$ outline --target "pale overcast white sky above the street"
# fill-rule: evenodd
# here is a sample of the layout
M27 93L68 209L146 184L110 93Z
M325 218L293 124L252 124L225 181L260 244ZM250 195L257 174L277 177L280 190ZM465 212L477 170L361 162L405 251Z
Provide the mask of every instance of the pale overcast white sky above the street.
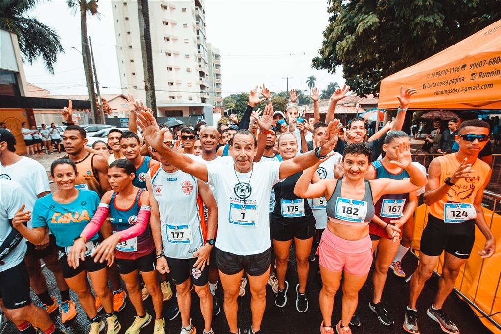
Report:
M223 96L248 92L266 83L272 92L306 89L314 75L316 86L325 89L330 82L343 84L341 69L335 75L311 68L311 59L323 41L328 24L327 0L231 1L205 3L207 42L221 52ZM99 2L100 18L88 19L102 94L120 93L116 57L112 2ZM61 37L65 54L59 55L55 75L39 60L25 64L28 82L53 94L87 94L81 50L80 18L74 16L64 0L41 2L31 13L53 27Z

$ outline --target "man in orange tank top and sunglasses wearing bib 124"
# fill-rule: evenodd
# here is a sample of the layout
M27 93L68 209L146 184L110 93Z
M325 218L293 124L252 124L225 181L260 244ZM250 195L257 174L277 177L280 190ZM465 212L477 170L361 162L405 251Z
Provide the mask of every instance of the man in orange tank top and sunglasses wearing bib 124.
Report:
M459 151L433 159L428 168L424 203L429 206L430 213L421 237L419 264L410 280L410 300L403 324L411 333L419 333L417 298L442 251L445 250L445 254L438 290L426 314L437 321L443 331L459 333L457 326L443 313L442 305L454 287L461 266L470 256L475 225L486 239L478 255L490 257L495 250L494 236L482 211L483 190L490 180L491 170L478 158L489 140L489 125L479 120L463 122L455 140Z

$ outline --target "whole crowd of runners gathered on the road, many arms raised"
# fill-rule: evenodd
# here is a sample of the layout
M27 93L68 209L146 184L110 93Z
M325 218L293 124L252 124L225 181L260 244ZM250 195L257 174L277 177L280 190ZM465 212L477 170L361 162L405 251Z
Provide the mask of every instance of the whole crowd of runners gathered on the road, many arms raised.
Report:
M16 153L16 139L1 125L3 311L23 334L34 334L36 327L61 334L49 313L60 308L65 323L77 315L80 303L89 334L105 327L107 334L116 334L125 326L117 313L128 300L136 313L127 323L128 334L151 321L153 332L164 334L166 320L178 314L181 334L194 334L195 326L212 334L212 318L221 311L215 297L220 287L227 328L218 332L242 332L240 306L252 311L247 332L263 333L267 308L284 307L293 298L299 314L290 316L300 317L312 302L319 303L318 331L347 334L364 321L356 310L367 306L358 305L358 294L374 262L368 307L390 326L398 305L383 303L383 289L389 271L406 276L401 260L423 194L428 224L403 329L419 333L416 301L445 251L426 314L444 332L459 333L442 305L469 256L485 258L495 251L481 201L491 173L490 138L499 141L499 120L489 125L476 114L461 113L448 120L447 129L439 119L427 129L413 127L414 137L426 134L424 150L443 153L426 170L412 161L409 135L401 131L418 91L401 87L396 117L369 131L365 119L341 124L335 118L336 103L349 90L345 85L334 92L322 121L317 89L310 96L314 117L304 119L296 91L283 111L274 111L263 85L249 93L241 117L229 115L216 126L157 124L147 106L128 96L129 131L112 129L106 142L92 147L86 145L86 131L74 124L70 104L61 111L62 133L54 124L41 129L22 124L28 157ZM261 103L264 109L255 110ZM61 144L66 154L51 165L57 186L51 192L46 171L29 156L61 152ZM486 242L471 254L475 226ZM296 286L286 277L293 243ZM60 302L49 293L40 259L56 277ZM308 289L312 261L320 267L318 296ZM266 304L267 285L275 294L272 306ZM32 303L30 287L41 307ZM341 318L333 321L339 288ZM191 316L192 290L201 319ZM238 302L246 291L250 306ZM149 296L153 309L144 304ZM175 302L164 309L169 299Z

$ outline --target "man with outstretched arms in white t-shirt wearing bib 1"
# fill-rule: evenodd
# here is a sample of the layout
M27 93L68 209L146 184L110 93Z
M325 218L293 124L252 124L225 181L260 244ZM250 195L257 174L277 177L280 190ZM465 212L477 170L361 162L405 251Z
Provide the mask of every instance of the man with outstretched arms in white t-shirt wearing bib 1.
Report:
M257 120L262 130L260 136L268 135L272 115L273 108L265 108L262 119ZM249 333L259 332L270 268L271 188L289 175L313 166L319 158L325 158L337 142L339 121L330 124L321 147L284 162L254 163L258 141L249 131L240 130L229 148L233 165L204 165L165 145L163 133L166 129L160 130L151 114L141 111L137 119L145 140L154 150L176 168L217 188L214 194L218 205L216 261L224 289L226 320L230 332L238 333L237 298L240 279L245 272L252 293L253 323ZM264 139L266 141L266 137Z

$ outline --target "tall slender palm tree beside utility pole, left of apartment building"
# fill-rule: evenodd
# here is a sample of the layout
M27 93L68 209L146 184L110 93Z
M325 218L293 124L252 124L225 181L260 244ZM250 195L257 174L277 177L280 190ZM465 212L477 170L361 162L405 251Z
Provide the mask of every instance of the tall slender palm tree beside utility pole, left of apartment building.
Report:
M94 122L97 123L100 119L99 111L97 108L96 92L94 89L94 77L92 74L91 65L91 52L89 49L89 38L87 36L87 14L92 16L98 15L97 5L98 0L66 0L66 4L73 13L80 12L80 30L82 42L82 61L84 63L85 81L87 83L87 93L89 94L89 101L91 102L91 111Z

